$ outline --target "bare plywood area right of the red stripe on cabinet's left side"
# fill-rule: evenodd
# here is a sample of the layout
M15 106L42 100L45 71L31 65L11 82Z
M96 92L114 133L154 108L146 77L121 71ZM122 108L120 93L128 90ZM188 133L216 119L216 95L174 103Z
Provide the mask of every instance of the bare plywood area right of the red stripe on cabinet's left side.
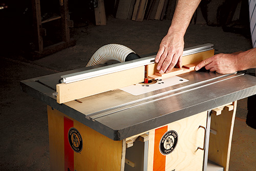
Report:
M113 141L78 121L74 127L83 135L84 145L74 155L76 170L121 170L122 141Z

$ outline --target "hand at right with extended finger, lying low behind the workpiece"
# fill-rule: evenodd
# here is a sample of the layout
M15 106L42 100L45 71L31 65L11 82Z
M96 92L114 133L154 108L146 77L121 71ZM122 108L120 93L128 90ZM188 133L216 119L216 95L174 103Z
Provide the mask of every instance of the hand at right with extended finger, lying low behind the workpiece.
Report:
M231 74L237 72L238 55L237 54L217 54L201 61L195 68L196 71L205 67L211 72L216 71L219 74Z

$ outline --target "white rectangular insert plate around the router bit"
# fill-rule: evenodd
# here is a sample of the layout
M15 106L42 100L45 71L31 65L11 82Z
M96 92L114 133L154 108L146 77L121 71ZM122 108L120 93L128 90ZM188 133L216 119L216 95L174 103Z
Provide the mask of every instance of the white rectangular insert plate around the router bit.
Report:
M174 77L169 77L169 78L165 78L165 79L159 79L156 81L157 82L154 84L137 83L137 84L133 84L132 86L127 86L127 87L121 88L120 90L137 96L137 95L141 95L144 93L153 92L156 90L174 86L176 84L180 84L183 82L187 82L188 80L178 77L178 76L174 76Z

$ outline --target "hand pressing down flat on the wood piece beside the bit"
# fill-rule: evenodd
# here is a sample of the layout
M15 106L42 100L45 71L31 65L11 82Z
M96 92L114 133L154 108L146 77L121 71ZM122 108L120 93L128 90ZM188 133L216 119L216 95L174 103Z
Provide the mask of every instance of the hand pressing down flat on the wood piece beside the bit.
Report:
M167 34L161 41L155 61L158 63L159 73L170 72L175 65L181 68L181 59L184 49L182 35Z

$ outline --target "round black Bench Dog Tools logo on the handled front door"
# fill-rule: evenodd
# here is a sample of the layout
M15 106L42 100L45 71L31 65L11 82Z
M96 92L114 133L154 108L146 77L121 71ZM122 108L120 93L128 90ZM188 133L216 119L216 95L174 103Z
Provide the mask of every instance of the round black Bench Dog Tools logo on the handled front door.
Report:
M178 143L178 134L175 131L166 132L159 143L160 152L163 155L172 153Z

